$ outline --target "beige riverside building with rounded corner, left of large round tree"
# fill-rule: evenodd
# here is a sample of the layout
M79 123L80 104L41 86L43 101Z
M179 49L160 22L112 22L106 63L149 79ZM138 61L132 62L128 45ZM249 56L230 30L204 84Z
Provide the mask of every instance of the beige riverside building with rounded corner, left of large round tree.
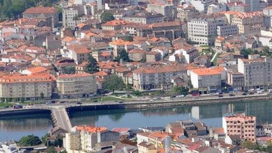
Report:
M62 74L57 78L57 90L61 98L79 98L96 95L95 76L89 73Z

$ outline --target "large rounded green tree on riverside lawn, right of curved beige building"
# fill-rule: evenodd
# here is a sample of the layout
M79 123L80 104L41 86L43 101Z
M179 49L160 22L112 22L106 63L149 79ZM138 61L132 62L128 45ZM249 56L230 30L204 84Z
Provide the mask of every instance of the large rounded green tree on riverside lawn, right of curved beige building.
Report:
M113 91L115 90L121 90L125 87L125 83L123 82L123 79L121 77L118 77L116 74L112 74L109 79L107 79L105 83L105 88Z

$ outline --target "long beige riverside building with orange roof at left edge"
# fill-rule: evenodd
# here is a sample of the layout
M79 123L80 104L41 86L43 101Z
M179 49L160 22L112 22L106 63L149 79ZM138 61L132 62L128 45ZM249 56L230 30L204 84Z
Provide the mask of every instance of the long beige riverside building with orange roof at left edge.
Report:
M0 98L39 99L43 93L50 99L55 88L56 78L47 73L18 75L9 74L0 78Z

